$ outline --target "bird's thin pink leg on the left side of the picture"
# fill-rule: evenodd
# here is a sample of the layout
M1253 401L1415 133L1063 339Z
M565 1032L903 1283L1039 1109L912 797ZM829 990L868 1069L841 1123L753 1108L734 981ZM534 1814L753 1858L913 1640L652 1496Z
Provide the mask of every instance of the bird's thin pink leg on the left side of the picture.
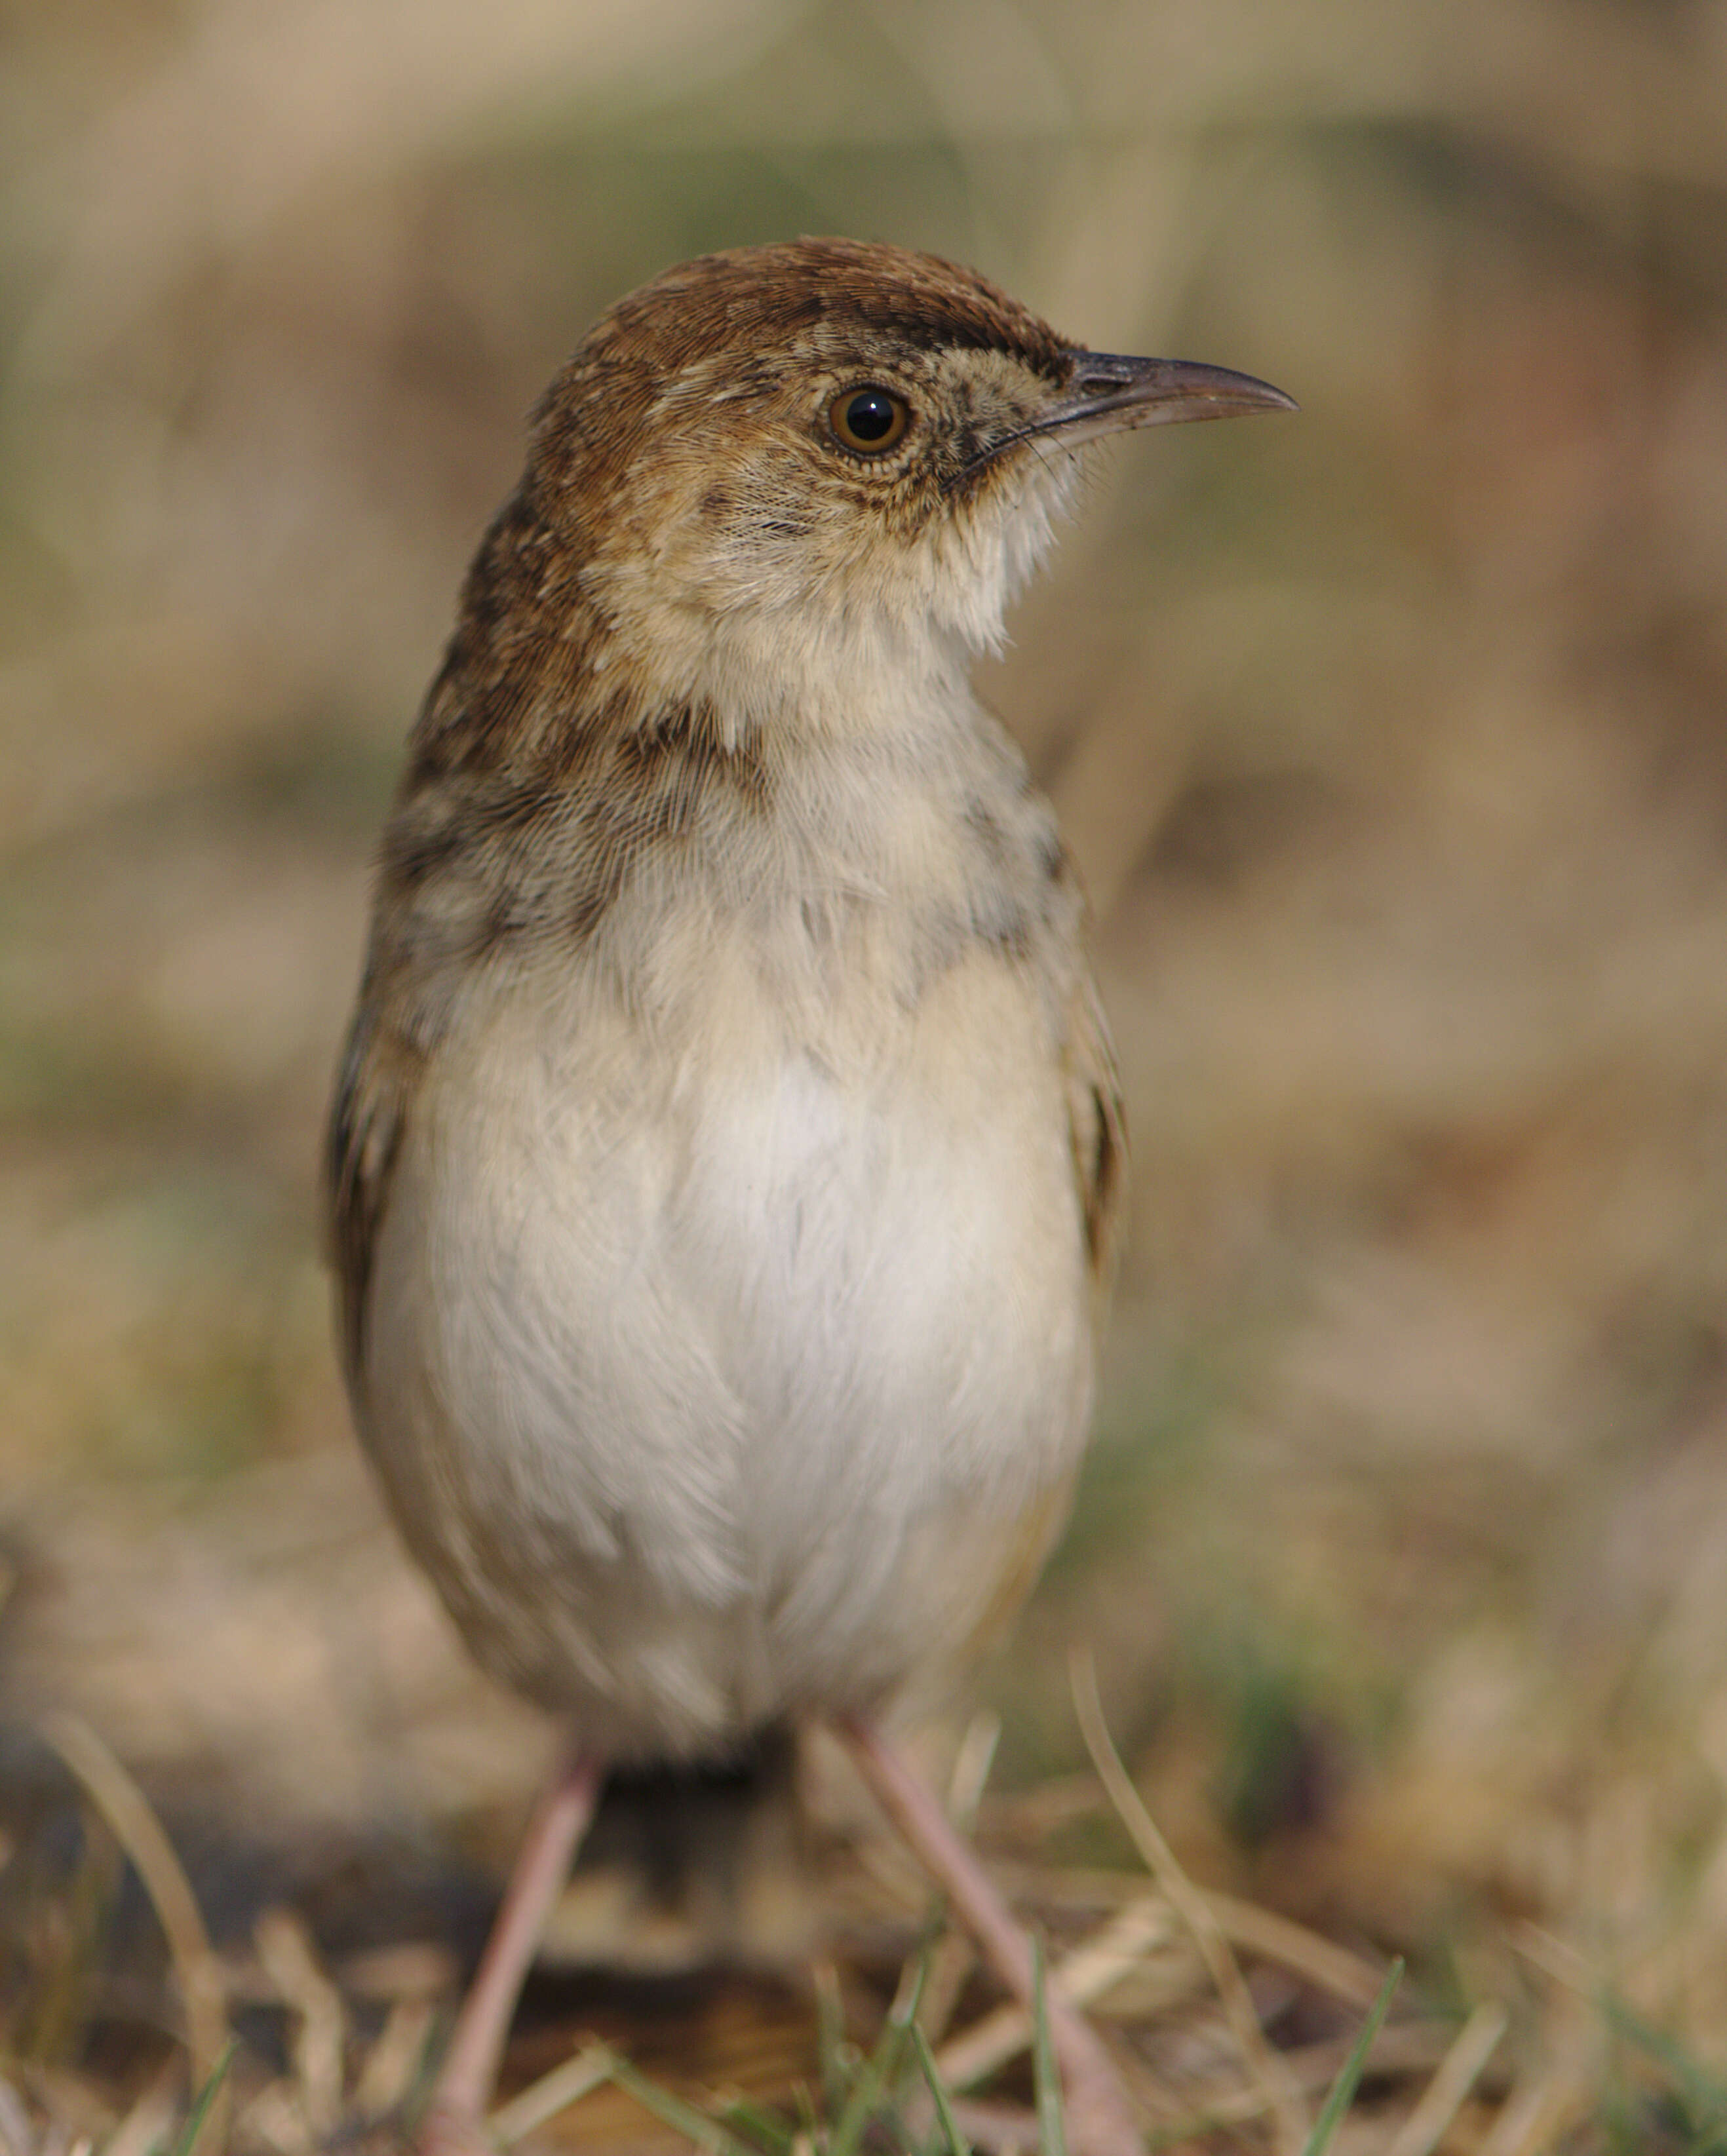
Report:
M485 2106L492 2102L509 2022L539 1934L593 1820L602 1779L597 1759L574 1753L535 1805L492 1936L431 2085L416 2141L418 2156L489 2156Z

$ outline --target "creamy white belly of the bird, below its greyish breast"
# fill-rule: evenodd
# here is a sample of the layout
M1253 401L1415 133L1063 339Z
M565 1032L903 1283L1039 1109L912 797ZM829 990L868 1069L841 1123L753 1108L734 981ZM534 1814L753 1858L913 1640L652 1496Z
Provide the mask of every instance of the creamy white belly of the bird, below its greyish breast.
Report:
M395 1166L360 1421L474 1654L614 1757L878 1708L1061 1524L1089 1287L1048 1022L994 955L789 1044L515 996ZM815 1052L828 1050L828 1052Z

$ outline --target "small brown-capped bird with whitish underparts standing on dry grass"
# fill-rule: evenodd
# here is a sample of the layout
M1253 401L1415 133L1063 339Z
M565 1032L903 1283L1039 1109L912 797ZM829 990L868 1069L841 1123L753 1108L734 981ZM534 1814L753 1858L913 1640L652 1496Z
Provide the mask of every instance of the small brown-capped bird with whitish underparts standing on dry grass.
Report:
M1294 407L854 239L707 254L552 382L412 729L326 1147L410 1554L569 1753L420 2124L483 2150L608 1770L826 1720L1026 1996L895 1736L1065 1520L1125 1132L1087 903L970 671L1080 451ZM1069 2134L1141 2145L1061 2003Z

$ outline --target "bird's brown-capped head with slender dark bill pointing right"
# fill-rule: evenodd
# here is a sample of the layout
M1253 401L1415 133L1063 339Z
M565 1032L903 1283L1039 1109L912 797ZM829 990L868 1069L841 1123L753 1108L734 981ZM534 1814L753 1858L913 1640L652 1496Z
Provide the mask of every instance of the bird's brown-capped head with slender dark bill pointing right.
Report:
M621 300L539 410L524 502L614 679L856 720L1000 638L1080 444L1289 403L1087 351L936 257L798 239Z

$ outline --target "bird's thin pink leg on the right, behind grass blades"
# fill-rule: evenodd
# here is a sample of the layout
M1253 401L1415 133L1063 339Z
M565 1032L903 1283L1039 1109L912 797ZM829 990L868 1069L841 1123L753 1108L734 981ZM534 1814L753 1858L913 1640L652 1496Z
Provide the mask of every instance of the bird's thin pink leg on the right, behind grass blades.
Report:
M992 1887L970 1843L955 1833L931 1789L873 1723L860 1716L847 1718L839 1725L839 1733L882 1811L944 1889L1000 1981L1031 2009L1031 1940ZM1082 2150L1084 2156L1145 2156L1132 2100L1102 2040L1054 1990L1046 1988L1044 1999L1067 2100L1069 2147Z

